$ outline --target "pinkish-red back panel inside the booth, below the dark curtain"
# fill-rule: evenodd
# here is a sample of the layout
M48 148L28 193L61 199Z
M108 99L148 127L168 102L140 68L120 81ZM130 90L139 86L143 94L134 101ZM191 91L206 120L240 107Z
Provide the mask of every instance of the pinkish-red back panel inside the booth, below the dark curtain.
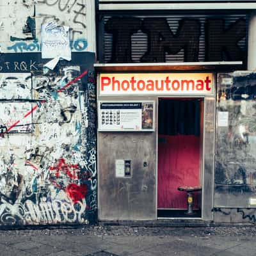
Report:
M195 135L159 135L158 208L186 209L186 192L179 186L200 186L200 137ZM198 208L195 193L195 208Z

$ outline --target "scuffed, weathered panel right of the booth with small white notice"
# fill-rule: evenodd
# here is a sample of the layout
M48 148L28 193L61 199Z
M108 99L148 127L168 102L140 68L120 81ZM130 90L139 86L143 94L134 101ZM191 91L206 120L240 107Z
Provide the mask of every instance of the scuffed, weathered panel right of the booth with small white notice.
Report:
M218 76L215 207L256 207L256 74Z

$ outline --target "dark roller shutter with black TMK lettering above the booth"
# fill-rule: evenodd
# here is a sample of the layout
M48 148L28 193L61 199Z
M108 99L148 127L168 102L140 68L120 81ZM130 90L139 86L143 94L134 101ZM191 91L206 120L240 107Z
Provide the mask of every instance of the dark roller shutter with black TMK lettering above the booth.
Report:
M100 62L246 61L246 15L145 17L119 10L104 13L99 24L99 38L104 38L99 40Z

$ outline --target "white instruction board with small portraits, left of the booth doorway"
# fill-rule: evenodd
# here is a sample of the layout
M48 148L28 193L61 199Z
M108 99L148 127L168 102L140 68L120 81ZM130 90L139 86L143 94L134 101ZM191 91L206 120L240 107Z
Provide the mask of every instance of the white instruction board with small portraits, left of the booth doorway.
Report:
M99 102L99 131L154 131L154 101Z

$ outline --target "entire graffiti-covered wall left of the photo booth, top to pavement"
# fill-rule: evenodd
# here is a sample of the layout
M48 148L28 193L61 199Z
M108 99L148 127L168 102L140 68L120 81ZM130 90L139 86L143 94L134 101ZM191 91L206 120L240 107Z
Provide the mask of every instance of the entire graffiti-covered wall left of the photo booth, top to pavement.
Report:
M0 225L97 220L94 8L0 3ZM50 70L40 43L52 20L70 27L72 56Z

